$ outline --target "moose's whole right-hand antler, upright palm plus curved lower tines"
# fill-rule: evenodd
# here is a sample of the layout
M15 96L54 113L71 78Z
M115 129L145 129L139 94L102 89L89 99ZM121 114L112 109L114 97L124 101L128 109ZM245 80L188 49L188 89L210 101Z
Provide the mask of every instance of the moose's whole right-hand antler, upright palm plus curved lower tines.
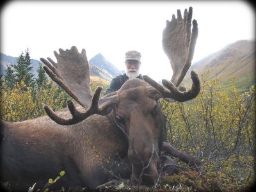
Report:
M166 27L163 30L162 45L172 66L173 75L171 81L163 79L162 83L164 87L156 83L156 81L150 77L143 76L143 79L161 92L164 98L186 101L195 98L200 92L200 81L194 71L191 71L191 79L193 81L191 90L188 92L180 92L177 88L191 66L198 36L198 27L195 19L193 20L191 34L191 19L192 8L189 7L189 12L187 10L184 11L183 19L180 10L177 10L177 19L175 15L172 15L171 21L166 20Z

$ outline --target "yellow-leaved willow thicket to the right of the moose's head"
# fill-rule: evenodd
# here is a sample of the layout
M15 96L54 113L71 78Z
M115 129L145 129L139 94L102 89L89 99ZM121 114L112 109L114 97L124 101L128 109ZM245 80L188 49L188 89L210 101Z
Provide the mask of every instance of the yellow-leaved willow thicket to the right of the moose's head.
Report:
M161 100L167 116L168 141L198 157L205 174L224 186L250 186L255 170L255 86L239 93L232 77L230 92L221 91L220 79L202 74L201 92L188 102Z

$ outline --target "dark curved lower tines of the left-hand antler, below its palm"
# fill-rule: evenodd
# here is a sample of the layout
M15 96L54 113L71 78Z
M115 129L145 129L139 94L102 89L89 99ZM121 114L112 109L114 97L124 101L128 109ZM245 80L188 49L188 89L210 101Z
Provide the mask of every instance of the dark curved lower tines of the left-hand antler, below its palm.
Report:
M45 105L44 109L47 115L54 120L57 124L60 125L73 125L77 124L89 116L93 114L98 115L108 115L112 109L112 104L116 102L115 99L108 100L108 102L105 102L102 104L102 106L99 107L99 99L100 99L100 92L102 91L102 87L97 87L95 90L95 93L93 95L92 104L89 109L87 109L85 112L80 112L77 110L76 106L72 102L72 100L67 101L68 109L72 115L72 118L65 119L58 116L57 113L55 113L49 106Z

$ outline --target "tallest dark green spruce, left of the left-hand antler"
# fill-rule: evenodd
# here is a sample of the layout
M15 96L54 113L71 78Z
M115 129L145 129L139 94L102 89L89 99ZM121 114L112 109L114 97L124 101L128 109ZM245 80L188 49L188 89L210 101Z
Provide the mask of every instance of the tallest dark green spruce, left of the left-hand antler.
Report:
M31 58L29 56L29 49L26 49L25 55L22 52L17 59L17 65L12 65L13 68L15 68L16 73L16 82L21 82L22 79L26 86L33 87L35 84L35 79L32 74L31 69Z

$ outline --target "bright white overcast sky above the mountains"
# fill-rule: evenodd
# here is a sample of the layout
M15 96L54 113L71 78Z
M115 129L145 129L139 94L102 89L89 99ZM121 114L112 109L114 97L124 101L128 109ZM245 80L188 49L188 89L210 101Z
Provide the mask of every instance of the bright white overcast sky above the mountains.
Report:
M161 45L166 20L193 7L198 40L193 63L237 40L255 39L255 12L247 1L9 1L1 7L1 52L51 57L59 48L86 49L124 70L125 52L141 52L141 74L170 79Z

